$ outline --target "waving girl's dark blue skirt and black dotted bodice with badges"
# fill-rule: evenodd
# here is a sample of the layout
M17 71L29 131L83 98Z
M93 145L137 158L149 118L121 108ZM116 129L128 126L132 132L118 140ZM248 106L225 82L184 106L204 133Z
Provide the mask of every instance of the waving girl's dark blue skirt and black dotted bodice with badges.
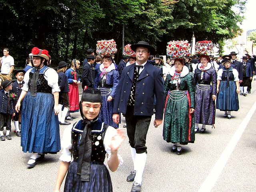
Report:
M90 180L81 181L81 175L77 174L79 164L79 144L84 131L82 120L74 124L72 128L72 155L74 160L68 167L64 192L112 192L112 182L108 169L103 164L106 156L103 140L108 125L100 120L92 122L92 154L90 164Z

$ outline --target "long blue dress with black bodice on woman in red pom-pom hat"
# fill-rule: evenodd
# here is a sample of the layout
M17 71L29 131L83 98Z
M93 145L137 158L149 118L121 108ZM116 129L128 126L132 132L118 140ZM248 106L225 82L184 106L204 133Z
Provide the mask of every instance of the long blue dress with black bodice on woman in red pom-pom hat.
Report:
M54 96L52 88L44 78L48 69L44 66L39 70L36 82L37 92L30 92L33 68L29 74L29 90L22 103L22 134L23 152L56 153L60 151L60 128L58 116L54 115ZM33 95L33 96L32 96Z

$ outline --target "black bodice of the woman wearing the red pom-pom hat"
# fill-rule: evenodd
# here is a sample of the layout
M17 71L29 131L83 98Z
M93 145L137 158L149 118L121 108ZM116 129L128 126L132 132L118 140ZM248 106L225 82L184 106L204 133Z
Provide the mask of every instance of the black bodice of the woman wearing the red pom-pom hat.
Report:
M48 85L47 80L44 78L44 73L46 72L46 70L48 70L49 67L48 66L43 66L40 71L39 71L39 76L38 76L38 80L37 82L32 82L32 77L34 72L36 72L36 68L32 68L32 70L29 73L29 80L28 80L28 90L30 91L30 85L31 84L35 84L37 86L37 92L43 92L43 93L51 93L52 92L52 88Z

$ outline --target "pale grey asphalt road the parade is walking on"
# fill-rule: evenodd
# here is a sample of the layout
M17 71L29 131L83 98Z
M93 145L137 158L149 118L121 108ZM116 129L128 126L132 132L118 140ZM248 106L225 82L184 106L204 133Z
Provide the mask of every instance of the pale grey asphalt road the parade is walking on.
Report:
M180 156L170 152L171 144L162 138L162 125L154 128L152 116L142 192L256 191L256 81L252 83L252 94L239 96L240 109L232 112L232 119L216 110L215 129L206 126L206 133L196 134L195 143L184 146ZM74 116L79 120L79 113ZM123 124L122 117L120 127ZM61 135L64 128L60 126ZM133 164L127 137L119 154L124 164L110 172L114 192L130 192L132 183L126 182L126 176ZM48 154L27 169L30 154L22 152L20 138L12 132L12 140L0 141L0 192L53 191L59 156Z

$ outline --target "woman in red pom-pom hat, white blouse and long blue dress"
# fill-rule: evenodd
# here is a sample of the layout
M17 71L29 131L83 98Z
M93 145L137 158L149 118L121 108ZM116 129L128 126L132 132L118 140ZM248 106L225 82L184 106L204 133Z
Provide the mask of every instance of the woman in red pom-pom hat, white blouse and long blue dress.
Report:
M24 75L25 83L15 109L17 112L20 110L21 101L24 99L21 146L23 152L32 153L27 167L33 168L36 162L44 158L44 154L56 154L60 151L57 116L60 88L57 72L47 66L48 51L34 47L30 56L34 67Z

